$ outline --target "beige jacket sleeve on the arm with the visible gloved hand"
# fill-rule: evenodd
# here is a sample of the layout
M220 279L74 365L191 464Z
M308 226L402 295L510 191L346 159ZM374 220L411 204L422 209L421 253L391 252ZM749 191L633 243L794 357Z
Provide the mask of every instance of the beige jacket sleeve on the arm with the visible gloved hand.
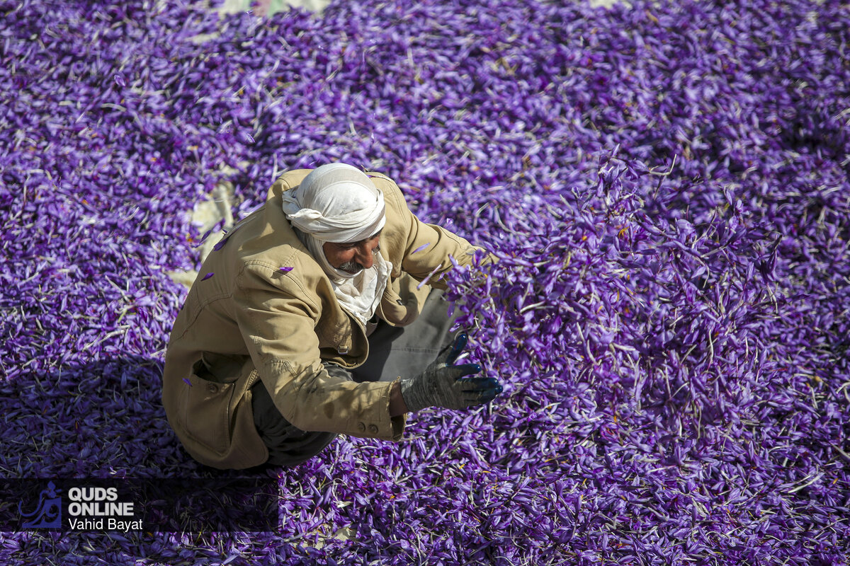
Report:
M298 429L399 440L405 418L389 416L392 383L332 377L320 359L320 305L275 266L245 266L234 291L235 317L275 406ZM286 279L286 285L283 284Z

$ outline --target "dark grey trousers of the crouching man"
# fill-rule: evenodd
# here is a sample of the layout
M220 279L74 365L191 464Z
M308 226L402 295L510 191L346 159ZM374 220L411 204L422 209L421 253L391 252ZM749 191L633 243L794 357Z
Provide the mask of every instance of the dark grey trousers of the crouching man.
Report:
M443 292L433 289L416 321L406 327L378 322L369 336L369 358L360 367L344 370L336 364L325 365L328 373L341 378L364 381L394 381L421 373L450 342L455 317L448 316L449 304ZM269 448L268 464L295 466L324 450L337 434L307 432L289 423L275 407L262 381L251 389L254 424Z

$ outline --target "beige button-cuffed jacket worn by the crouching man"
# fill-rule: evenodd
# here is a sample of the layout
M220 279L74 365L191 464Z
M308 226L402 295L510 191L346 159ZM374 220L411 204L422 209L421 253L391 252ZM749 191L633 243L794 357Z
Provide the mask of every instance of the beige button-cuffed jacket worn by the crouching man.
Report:
M252 416L250 389L258 379L298 429L399 440L405 427L405 417L389 416L392 384L333 378L322 365L357 367L369 343L281 209L280 194L309 171L280 177L266 204L225 236L174 322L162 403L190 455L215 468L250 468L268 458ZM468 265L476 248L419 221L395 182L369 175L387 206L380 254L393 264L377 316L403 326L428 296L428 285L416 290L418 281L439 266L429 284L445 289L438 277L450 270L450 256Z

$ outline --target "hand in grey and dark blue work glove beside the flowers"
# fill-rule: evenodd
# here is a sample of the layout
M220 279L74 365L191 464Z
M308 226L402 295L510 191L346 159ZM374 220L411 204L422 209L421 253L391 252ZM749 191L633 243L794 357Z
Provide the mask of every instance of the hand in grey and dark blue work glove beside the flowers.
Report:
M427 406L465 409L489 403L501 393L501 385L495 378L464 377L481 371L477 363L452 365L466 345L467 334L461 333L424 372L401 380L401 396L408 411L419 411Z

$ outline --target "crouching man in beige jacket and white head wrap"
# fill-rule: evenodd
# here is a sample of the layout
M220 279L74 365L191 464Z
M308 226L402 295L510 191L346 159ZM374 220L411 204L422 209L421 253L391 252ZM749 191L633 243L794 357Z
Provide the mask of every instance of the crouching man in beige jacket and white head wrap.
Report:
M399 440L406 412L492 401L496 379L453 365L465 334L442 347L450 320L428 289L475 250L416 219L388 177L287 172L216 245L174 322L168 422L209 466L292 466L337 434Z

